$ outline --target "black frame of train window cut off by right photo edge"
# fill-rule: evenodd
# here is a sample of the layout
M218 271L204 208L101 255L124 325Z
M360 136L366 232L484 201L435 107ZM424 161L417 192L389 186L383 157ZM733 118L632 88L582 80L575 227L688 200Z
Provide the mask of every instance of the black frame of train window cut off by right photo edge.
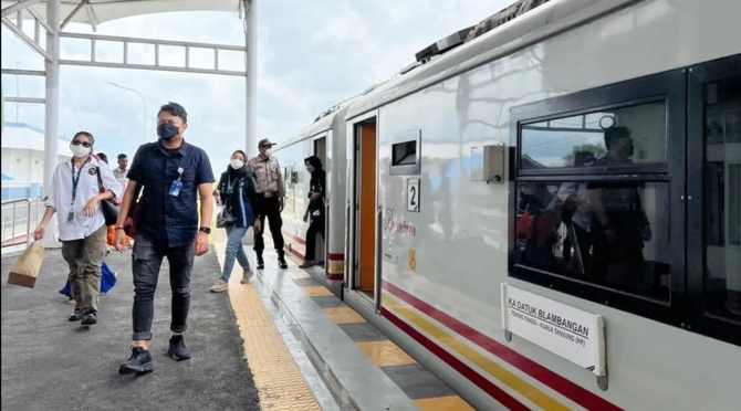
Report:
M739 76L741 54L687 68L687 289L686 328L741 346L741 322L711 314L705 304L705 85ZM728 233L726 233L728 235ZM724 239L728 242L728 239Z

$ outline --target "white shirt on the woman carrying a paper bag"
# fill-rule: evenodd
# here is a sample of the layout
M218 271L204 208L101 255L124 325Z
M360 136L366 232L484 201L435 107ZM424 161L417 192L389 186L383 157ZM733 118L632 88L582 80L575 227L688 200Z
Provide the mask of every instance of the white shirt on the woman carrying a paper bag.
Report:
M46 207L53 208L58 213L60 240L62 241L83 240L105 224L100 203L93 217L84 214L87 201L101 192L97 182L98 172L103 187L113 191L114 198L121 198L122 196L121 185L113 177L113 171L105 162L91 157L90 161L82 166L82 170L75 168L73 175L72 169L71 161L61 162L56 166L46 199ZM72 203L72 178L73 176L76 178L77 172L80 172L77 193L74 203ZM71 213L72 220L70 221Z

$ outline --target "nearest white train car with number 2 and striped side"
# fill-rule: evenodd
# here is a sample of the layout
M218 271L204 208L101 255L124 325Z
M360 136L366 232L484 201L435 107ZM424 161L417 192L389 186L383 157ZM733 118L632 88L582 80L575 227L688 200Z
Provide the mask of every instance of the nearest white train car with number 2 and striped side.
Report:
M554 0L353 102L345 302L478 410L739 410L739 15Z

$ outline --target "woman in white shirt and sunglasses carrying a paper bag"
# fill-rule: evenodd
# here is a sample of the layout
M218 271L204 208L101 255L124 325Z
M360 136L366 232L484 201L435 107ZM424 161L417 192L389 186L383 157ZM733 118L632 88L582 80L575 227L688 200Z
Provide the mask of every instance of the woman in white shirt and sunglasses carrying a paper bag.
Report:
M33 232L34 240L43 239L46 224L54 213L59 213L62 257L70 266L75 299L70 322L82 320L84 326L97 324L101 265L107 233L101 201L119 198L122 193L108 166L92 156L94 144L93 135L87 131L74 135L70 144L74 157L54 169L46 211Z

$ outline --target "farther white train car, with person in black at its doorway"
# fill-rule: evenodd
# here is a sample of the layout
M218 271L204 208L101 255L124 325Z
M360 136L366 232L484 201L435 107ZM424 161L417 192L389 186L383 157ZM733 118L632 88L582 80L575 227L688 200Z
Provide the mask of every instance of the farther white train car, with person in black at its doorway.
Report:
M345 123L344 116L357 97L336 104L320 114L314 123L300 129L275 146L285 181L285 205L283 209L283 238L285 249L299 260L304 259L306 230L303 221L309 205L310 173L304 159L316 156L326 170L326 238L317 235L317 266L310 273L341 296L344 278L344 224L345 224Z

